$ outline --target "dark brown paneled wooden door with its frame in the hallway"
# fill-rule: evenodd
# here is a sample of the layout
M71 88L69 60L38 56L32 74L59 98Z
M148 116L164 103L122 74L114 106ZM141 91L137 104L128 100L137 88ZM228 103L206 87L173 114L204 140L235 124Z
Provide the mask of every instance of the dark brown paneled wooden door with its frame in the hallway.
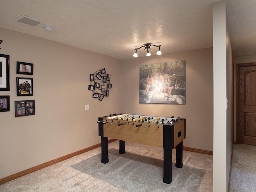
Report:
M236 143L256 145L256 63L238 64Z

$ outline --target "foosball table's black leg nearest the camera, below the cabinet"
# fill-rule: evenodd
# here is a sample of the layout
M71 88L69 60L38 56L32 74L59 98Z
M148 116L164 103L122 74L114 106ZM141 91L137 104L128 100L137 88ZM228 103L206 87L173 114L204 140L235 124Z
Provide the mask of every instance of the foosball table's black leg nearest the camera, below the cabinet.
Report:
M172 150L164 149L164 183L172 182Z

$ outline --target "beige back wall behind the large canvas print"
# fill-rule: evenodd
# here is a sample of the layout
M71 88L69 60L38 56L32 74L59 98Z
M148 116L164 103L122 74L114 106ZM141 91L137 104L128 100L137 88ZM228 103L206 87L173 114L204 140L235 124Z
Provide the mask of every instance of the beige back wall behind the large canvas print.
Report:
M186 104L140 104L139 66L185 60ZM122 112L186 118L183 145L213 151L212 48L122 61Z

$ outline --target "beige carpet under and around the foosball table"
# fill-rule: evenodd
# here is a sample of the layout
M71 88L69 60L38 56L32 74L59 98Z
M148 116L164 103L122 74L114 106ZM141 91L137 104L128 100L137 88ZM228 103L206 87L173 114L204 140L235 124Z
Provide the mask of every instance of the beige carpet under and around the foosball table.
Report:
M80 154L0 186L1 192L212 192L213 156L183 151L183 168L175 167L172 183L163 183L163 149L126 142L109 144L109 162L100 148Z

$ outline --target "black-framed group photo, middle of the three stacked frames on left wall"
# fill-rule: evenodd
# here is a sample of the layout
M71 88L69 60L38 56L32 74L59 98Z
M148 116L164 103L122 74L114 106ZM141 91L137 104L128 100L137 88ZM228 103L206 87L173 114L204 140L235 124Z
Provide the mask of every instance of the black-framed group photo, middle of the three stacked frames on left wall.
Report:
M33 78L17 77L17 96L33 95Z

